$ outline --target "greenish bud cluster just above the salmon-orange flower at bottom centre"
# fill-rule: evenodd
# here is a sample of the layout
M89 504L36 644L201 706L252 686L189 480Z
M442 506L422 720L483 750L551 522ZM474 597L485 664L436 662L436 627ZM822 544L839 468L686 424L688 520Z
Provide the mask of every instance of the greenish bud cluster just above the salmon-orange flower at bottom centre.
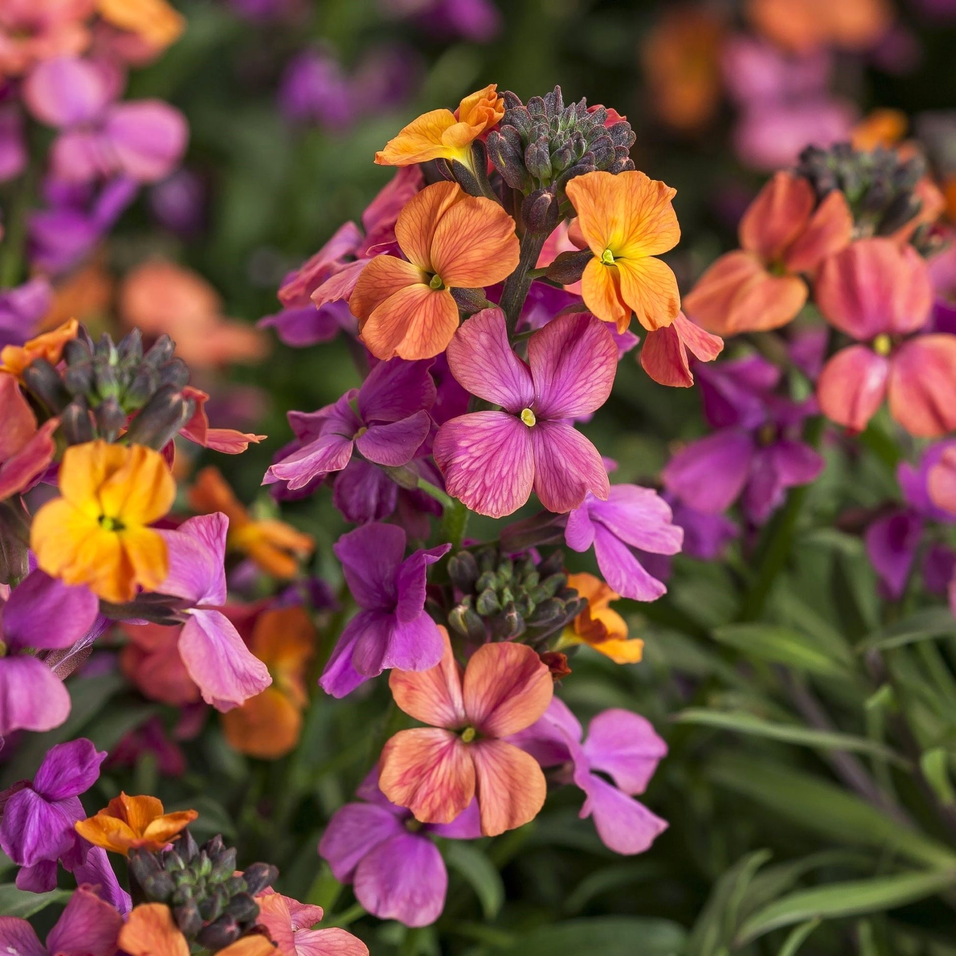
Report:
M472 641L545 638L576 617L584 606L568 587L564 555L545 560L514 559L489 545L448 559L448 576L461 599L448 615L453 631Z

